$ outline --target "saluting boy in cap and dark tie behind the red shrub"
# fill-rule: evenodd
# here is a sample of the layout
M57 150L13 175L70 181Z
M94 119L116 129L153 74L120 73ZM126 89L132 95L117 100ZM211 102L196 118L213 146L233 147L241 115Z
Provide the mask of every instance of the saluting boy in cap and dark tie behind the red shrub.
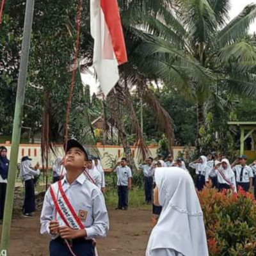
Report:
M247 157L242 155L234 161L232 167L236 175L237 188L241 187L244 191L248 192L252 190L253 186L253 171L252 168L246 164L246 161Z

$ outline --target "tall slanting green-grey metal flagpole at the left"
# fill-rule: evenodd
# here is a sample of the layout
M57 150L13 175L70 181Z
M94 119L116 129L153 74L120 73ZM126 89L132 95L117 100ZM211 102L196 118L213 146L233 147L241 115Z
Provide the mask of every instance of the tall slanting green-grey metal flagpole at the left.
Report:
M17 161L19 154L20 132L22 124L24 97L26 92L26 76L28 70L29 60L29 48L31 30L33 24L33 12L34 12L35 0L26 0L26 14L24 21L24 31L22 40L22 51L20 58L20 70L19 80L17 86L17 96L15 102L15 114L13 121L12 131L12 149L10 156L10 166L8 172L8 184L6 189L6 203L4 206L4 220L1 237L1 252L6 250L8 254L8 247L10 244L10 229L12 224L12 212L13 212L13 198L15 191L15 178L17 172Z

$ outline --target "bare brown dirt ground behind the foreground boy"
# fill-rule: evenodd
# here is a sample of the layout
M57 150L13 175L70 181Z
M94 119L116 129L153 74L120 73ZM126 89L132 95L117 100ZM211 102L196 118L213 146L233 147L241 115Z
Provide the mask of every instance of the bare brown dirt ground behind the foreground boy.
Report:
M151 230L151 211L109 208L110 230L107 239L98 240L100 256L144 256ZM49 237L41 236L40 212L33 219L13 220L11 247L8 256L48 256ZM60 255L61 256L61 255Z

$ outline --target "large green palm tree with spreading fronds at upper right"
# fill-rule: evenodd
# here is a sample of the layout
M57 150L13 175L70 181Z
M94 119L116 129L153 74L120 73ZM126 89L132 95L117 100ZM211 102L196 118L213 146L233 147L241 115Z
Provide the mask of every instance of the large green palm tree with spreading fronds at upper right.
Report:
M205 102L226 93L255 95L255 44L246 40L256 4L230 22L230 0L177 0L162 12L145 14L147 42L138 45L138 67L195 99L197 139L204 126ZM152 22L156 17L157 21ZM142 30L145 32L145 28ZM145 58L151 61L145 61Z

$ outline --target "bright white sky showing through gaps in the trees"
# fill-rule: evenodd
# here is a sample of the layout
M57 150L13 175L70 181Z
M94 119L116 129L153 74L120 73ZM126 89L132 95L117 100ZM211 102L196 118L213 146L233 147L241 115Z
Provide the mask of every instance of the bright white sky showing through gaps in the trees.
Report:
M230 10L230 19L233 19L236 17L242 10L243 8L251 3L256 3L256 0L230 0L232 7ZM256 22L252 24L250 28L250 33L256 32ZM88 75L83 75L83 80L84 83L89 84L91 88L91 95L95 92L97 93L98 91L98 86L99 84L95 83L95 78L88 74Z

